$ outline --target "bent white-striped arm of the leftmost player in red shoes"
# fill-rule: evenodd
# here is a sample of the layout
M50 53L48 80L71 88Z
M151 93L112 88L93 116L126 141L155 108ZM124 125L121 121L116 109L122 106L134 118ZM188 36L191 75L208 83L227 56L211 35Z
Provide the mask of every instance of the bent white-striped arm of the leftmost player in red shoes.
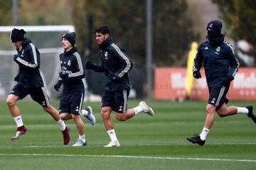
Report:
M36 47L33 44L29 44L28 47L28 55L31 57L26 56L26 52L24 52L24 56L21 57L22 54L14 55L14 61L18 64L21 64L23 67L28 67L31 69L38 69L40 67L40 54L38 50L36 50ZM31 60L28 61L28 58Z

